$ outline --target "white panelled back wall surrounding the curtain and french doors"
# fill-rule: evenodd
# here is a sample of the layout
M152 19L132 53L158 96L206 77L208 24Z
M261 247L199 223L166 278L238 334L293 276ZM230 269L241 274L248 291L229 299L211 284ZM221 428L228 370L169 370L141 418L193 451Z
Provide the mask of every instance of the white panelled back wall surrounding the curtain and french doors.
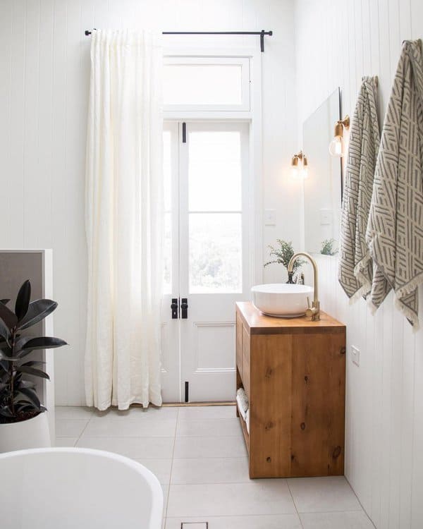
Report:
M84 166L90 37L87 28L274 30L263 60L264 230L299 243L292 0L1 0L0 248L52 248L56 401L85 403L86 251ZM167 37L183 44L183 37ZM187 38L187 37L185 37ZM185 44L259 46L258 37L188 37ZM279 269L266 271L266 278Z

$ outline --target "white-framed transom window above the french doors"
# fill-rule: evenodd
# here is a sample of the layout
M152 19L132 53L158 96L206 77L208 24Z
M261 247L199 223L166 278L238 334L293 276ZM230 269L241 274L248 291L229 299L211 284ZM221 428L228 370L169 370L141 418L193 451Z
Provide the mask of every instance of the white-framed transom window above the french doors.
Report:
M163 75L167 111L250 110L247 57L166 56Z

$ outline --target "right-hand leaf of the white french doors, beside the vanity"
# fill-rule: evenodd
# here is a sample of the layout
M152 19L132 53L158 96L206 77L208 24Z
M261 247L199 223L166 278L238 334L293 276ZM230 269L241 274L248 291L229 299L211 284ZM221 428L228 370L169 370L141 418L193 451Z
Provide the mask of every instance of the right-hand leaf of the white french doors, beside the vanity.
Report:
M235 399L235 301L248 295L247 123L187 123L180 174L181 384Z

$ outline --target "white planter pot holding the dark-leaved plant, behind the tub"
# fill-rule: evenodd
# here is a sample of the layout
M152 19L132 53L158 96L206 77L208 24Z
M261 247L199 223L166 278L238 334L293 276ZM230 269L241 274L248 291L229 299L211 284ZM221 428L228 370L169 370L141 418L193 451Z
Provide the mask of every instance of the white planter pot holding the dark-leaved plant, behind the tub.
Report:
M51 442L46 412L21 422L0 425L0 453L49 446Z

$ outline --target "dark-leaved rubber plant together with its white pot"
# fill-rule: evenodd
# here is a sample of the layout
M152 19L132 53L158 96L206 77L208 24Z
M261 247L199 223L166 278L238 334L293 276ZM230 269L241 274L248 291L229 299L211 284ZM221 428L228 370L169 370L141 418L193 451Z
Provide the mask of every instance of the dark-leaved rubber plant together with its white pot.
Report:
M44 320L57 303L48 299L30 302L30 281L20 287L15 310L10 300L0 300L0 452L49 446L46 408L35 391L33 377L49 379L40 369L43 362L31 360L37 349L66 345L50 336L28 336L26 329Z

